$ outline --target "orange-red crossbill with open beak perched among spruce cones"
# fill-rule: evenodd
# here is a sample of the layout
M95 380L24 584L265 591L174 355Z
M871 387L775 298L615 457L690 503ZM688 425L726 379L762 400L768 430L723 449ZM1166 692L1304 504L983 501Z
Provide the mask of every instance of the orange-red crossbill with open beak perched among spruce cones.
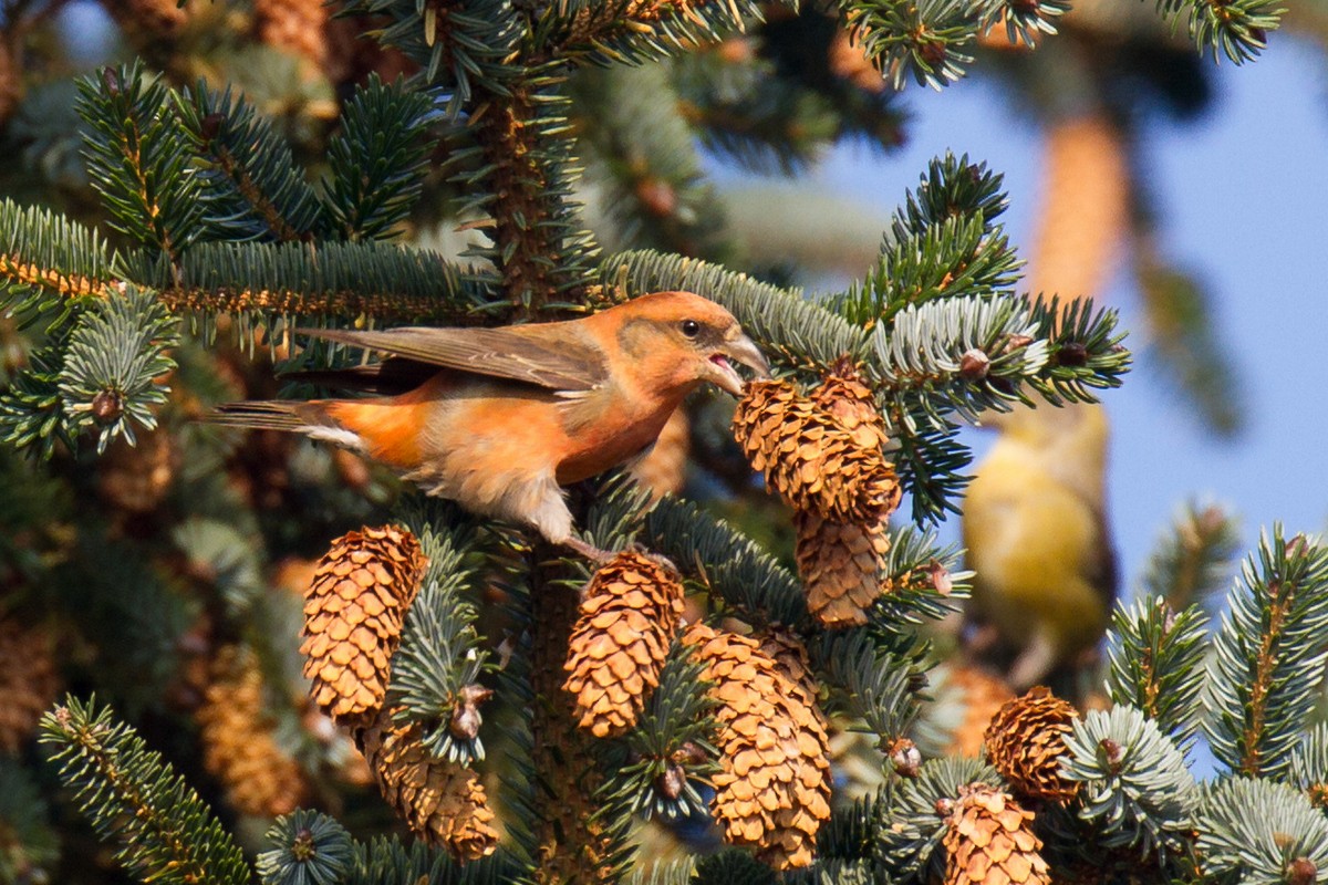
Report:
M211 421L345 447L429 495L523 523L590 559L607 555L574 536L562 486L647 451L701 383L740 395L730 360L769 375L737 320L691 292L656 292L563 322L303 333L389 354L303 373L378 395L235 402Z

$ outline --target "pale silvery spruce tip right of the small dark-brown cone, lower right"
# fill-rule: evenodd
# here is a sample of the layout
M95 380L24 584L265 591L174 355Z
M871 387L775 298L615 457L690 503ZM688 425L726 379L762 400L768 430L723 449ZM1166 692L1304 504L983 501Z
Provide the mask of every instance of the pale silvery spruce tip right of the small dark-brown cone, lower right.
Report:
M1065 738L1066 779L1082 784L1078 816L1100 828L1108 848L1137 848L1141 858L1183 851L1199 799L1185 754L1147 715L1120 703L1092 710Z

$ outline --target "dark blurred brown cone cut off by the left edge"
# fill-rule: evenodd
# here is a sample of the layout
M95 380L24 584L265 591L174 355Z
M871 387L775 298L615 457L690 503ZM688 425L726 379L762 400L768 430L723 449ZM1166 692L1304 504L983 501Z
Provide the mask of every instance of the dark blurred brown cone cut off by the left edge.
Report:
M60 675L45 628L0 621L0 750L19 748L37 730L41 714L56 702Z

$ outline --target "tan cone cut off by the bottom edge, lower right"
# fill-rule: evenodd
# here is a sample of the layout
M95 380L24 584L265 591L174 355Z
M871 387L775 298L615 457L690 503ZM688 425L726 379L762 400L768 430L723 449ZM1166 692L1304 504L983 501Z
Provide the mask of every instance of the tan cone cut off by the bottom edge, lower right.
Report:
M946 885L1050 885L1033 812L988 784L959 788L947 820Z

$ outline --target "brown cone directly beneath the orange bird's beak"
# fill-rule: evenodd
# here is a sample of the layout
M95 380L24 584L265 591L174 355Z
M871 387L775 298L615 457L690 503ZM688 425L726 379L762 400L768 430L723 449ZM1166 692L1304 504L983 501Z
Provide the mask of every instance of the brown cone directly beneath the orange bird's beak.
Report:
M876 523L899 506L899 480L879 448L818 409L788 381L753 381L733 434L768 486L797 510L841 523Z

